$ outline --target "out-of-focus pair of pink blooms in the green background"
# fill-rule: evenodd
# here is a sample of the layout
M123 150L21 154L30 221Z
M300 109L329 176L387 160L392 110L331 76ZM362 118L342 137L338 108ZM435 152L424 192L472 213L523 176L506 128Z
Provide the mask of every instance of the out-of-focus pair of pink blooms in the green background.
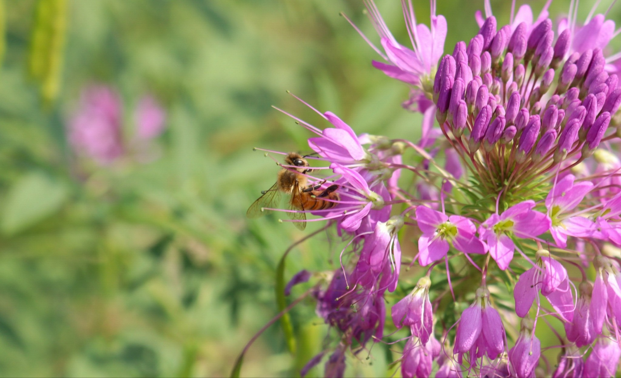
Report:
M78 109L67 125L68 140L76 153L99 165L135 152L148 159L149 143L164 130L166 113L150 95L143 96L134 111L135 130L129 140L123 133L123 104L116 90L104 85L86 87Z

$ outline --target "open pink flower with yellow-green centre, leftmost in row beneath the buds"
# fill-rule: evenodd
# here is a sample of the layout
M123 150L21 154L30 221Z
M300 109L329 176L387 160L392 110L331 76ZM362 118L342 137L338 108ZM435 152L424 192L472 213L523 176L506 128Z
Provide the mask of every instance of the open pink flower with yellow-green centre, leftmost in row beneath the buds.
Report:
M474 223L463 216L446 216L425 206L416 208L420 231L419 263L422 266L446 256L450 244L464 253L485 253L485 245L475 236Z

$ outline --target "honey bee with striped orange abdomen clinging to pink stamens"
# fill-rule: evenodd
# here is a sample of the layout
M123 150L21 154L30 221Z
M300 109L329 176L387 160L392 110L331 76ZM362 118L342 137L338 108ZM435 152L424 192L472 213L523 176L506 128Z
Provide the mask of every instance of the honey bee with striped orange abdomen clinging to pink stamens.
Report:
M320 188L325 181L318 185L309 185L308 178L304 174L312 172L312 169L309 168L309 163L304 157L296 152L289 152L284 161L287 165L294 165L298 168L283 167L278 172L276 183L270 189L261 191L263 195L250 205L246 213L248 218L258 218L268 212L264 208L274 208L278 205L281 193L291 196L290 210L323 210L330 209L337 204L332 201L339 200L338 193L335 192L338 185L330 185L324 190L320 190ZM287 214L289 214L289 218L299 221L293 222L297 228L301 230L306 228L306 213Z

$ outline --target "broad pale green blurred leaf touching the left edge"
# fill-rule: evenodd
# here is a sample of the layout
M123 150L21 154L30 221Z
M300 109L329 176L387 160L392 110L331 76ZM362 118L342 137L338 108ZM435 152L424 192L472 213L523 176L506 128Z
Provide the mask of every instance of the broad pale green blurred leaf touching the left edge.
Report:
M67 187L41 172L25 174L6 196L0 231L6 235L23 231L56 213L68 196Z

